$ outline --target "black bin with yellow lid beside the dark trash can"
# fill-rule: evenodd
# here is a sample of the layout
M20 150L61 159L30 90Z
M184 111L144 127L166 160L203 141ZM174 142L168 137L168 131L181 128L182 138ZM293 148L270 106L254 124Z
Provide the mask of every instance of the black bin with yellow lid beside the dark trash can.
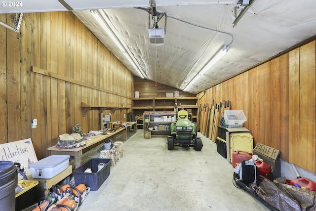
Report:
M39 184L38 180L19 180L18 184L21 184L25 189L15 194L15 211L21 211L23 209L33 207L35 205L35 186Z

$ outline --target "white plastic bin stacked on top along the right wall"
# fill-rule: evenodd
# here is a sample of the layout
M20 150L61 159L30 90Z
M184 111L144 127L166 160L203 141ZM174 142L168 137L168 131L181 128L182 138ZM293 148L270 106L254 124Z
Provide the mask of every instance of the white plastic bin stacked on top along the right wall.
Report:
M247 118L242 110L225 110L225 124L231 127L242 127L242 124L247 121Z

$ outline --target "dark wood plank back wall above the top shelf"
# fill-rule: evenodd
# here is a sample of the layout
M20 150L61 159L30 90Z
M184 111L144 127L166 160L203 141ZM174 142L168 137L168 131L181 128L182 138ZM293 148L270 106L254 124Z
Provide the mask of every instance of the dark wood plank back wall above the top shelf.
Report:
M182 91L180 89L158 84L155 86L155 82L149 81L147 79L142 79L140 77L134 76L134 90L139 91L139 97L166 97L167 92L179 91L179 97L195 97L195 94ZM134 93L133 93L134 94Z

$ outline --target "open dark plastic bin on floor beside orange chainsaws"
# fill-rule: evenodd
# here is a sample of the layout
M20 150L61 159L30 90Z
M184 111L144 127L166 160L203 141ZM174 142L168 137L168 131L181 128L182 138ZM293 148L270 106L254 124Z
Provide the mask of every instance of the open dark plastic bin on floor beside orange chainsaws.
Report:
M76 186L81 183L90 187L91 191L98 190L110 175L111 161L112 159L92 158L82 166L75 169L73 174ZM105 164L101 170L99 170L100 163ZM83 172L87 168L90 168L92 173Z

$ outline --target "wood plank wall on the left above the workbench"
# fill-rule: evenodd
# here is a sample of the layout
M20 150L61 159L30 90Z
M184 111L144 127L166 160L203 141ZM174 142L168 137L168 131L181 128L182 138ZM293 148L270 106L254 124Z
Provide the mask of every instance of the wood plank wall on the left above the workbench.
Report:
M8 25L13 20L0 14ZM81 102L131 107L133 75L72 12L24 13L19 33L0 29L0 144L32 138L41 159L76 123L83 132L99 129L99 110L83 117ZM117 110L111 119L124 122L128 112Z

